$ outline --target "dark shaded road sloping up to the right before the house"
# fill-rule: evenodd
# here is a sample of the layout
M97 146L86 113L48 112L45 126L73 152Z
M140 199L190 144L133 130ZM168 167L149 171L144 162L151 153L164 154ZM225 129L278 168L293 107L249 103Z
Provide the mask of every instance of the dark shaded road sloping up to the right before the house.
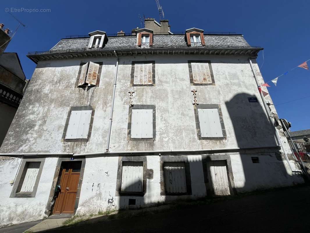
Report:
M111 221L98 218L46 232L310 232L310 187L272 190Z

